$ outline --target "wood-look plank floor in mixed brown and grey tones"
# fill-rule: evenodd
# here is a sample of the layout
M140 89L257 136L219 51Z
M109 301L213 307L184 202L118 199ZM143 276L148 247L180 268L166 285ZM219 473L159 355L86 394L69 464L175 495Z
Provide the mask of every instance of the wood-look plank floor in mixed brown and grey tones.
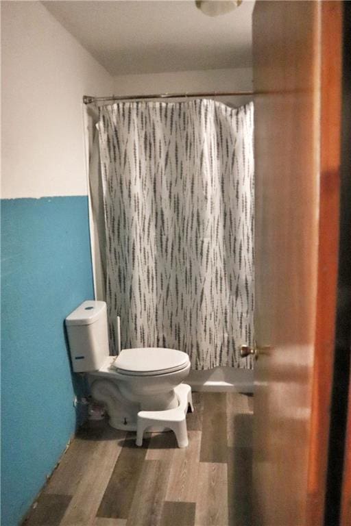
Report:
M25 526L250 526L252 397L193 393L189 447L173 433L80 429Z

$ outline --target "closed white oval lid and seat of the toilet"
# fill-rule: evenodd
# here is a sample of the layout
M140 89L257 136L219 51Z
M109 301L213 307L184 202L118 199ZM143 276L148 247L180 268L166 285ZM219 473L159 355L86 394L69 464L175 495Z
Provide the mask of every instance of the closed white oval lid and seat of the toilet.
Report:
M182 351L163 347L142 347L123 349L114 360L113 366L122 374L146 376L173 373L187 364L189 364L189 356Z

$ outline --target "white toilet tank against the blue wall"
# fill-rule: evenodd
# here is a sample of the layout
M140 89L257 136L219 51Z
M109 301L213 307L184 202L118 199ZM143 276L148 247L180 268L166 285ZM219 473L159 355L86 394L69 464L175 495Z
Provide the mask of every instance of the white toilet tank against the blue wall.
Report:
M66 317L73 371L98 371L109 355L105 301L84 301Z

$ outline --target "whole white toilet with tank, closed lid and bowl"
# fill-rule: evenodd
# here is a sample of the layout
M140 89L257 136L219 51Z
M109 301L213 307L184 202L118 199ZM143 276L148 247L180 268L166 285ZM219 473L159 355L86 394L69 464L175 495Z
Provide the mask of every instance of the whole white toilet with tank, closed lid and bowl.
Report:
M190 370L186 353L144 347L110 356L105 301L84 301L66 317L66 329L73 371L87 373L91 394L106 406L112 427L136 431L139 411L178 406L175 388Z

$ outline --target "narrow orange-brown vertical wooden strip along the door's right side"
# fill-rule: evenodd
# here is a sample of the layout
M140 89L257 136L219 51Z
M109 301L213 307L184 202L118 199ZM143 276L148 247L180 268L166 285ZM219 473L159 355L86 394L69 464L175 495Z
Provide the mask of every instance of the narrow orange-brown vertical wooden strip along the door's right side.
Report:
M342 2L320 1L320 151L317 315L308 461L308 518L322 525L335 354L341 149Z

